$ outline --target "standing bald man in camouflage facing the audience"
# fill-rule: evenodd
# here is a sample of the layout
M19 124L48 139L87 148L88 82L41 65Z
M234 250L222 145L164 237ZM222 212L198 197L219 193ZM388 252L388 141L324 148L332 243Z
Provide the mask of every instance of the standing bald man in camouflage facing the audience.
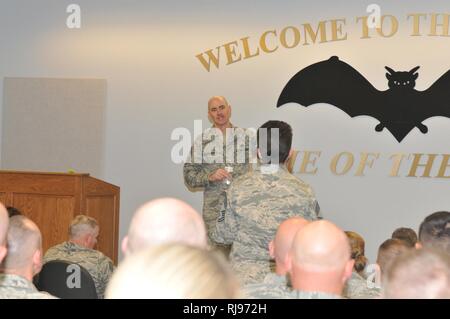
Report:
M184 180L189 188L203 188L203 219L209 243L226 255L229 246L217 245L211 234L225 200L225 191L234 178L250 169L247 156L249 132L233 126L230 117L231 106L225 97L213 96L209 99L208 118L213 126L196 139L190 160L184 164L183 169ZM230 133L232 136L227 136Z

